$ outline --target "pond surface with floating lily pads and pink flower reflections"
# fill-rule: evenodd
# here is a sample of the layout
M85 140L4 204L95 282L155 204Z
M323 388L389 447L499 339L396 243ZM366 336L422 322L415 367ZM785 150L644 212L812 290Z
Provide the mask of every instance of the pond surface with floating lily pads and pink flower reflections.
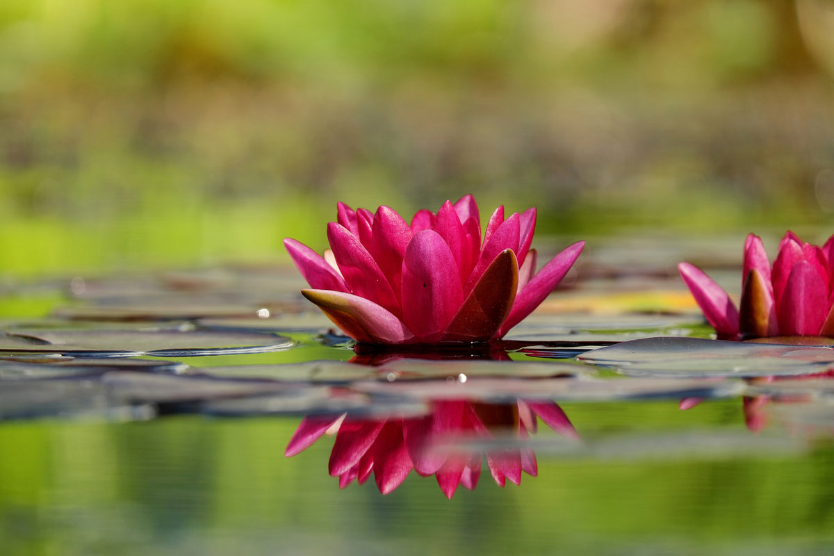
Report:
M642 268L455 353L356 353L287 268L10 284L0 552L831 553L834 350Z

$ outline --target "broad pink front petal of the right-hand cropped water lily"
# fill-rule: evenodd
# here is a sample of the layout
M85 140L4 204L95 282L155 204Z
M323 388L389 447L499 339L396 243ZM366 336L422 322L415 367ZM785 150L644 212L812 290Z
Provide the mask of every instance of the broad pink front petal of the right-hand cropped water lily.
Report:
M828 313L828 288L811 263L796 263L788 276L785 293L776 303L779 333L814 336Z

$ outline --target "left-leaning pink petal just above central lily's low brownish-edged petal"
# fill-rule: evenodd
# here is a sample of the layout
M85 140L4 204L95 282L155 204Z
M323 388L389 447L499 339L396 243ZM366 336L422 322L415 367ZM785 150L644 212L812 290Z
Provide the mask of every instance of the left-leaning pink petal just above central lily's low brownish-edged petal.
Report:
M369 299L389 312L399 315L399 302L388 283L388 278L385 278L379 265L359 239L349 233L347 228L333 222L328 224L327 238L350 293Z

